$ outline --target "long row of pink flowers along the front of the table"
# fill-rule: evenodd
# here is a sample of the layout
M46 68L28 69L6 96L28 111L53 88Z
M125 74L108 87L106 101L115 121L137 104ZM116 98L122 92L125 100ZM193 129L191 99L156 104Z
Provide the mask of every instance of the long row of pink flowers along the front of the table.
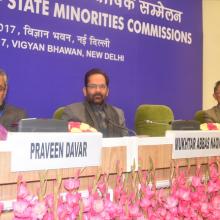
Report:
M170 189L155 187L154 170L132 169L124 174L118 169L113 189L113 199L108 190L108 174L97 174L88 196L83 197L80 171L74 178L57 177L54 193L44 195L45 181L41 180L38 196L31 195L25 181L19 177L17 200L13 203L14 220L219 220L220 167L219 161L210 162L209 176L204 178L200 165L195 175L188 178L189 168L173 169ZM60 193L60 186L66 190ZM0 212L3 209L0 203Z

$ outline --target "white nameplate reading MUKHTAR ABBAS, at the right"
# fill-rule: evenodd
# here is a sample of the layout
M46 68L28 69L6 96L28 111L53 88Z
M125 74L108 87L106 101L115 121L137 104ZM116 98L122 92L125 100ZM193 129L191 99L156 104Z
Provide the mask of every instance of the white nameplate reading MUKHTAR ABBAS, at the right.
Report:
M220 155L220 131L167 131L172 159Z

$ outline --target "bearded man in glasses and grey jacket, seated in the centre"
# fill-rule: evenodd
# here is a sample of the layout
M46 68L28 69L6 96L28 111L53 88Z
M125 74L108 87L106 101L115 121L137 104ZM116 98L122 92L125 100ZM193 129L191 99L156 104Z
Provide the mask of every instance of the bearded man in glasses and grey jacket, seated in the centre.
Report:
M62 119L89 124L103 133L103 137L128 135L124 113L106 103L109 93L109 78L100 69L91 69L84 78L85 101L65 107Z

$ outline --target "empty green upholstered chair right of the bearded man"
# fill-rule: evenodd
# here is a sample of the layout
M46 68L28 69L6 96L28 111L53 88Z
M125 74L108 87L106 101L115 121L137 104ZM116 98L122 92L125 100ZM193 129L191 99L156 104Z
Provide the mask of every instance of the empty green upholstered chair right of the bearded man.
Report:
M173 120L173 111L166 105L140 105L135 113L135 130L137 135L165 136Z

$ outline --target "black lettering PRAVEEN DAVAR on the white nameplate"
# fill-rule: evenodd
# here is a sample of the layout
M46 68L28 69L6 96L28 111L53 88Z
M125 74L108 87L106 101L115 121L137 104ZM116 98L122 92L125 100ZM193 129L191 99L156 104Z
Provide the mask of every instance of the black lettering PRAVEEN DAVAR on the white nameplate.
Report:
M87 157L87 142L32 142L30 159Z

